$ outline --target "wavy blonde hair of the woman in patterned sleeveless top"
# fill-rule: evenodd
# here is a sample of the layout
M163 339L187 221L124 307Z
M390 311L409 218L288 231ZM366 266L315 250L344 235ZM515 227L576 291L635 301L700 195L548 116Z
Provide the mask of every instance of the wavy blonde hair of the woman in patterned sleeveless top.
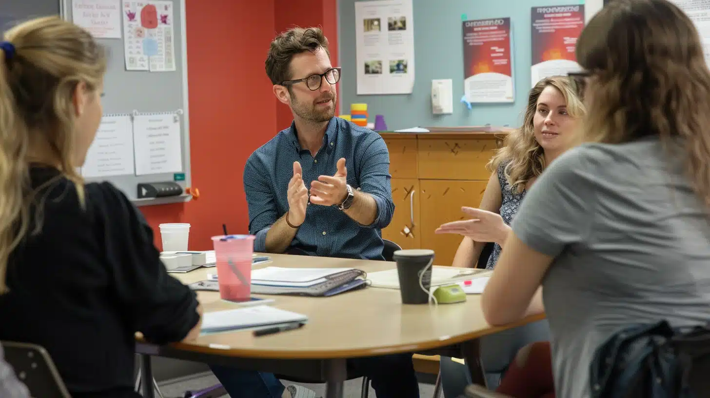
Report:
M528 107L525 108L523 116L523 125L508 134L503 147L488 162L490 171L496 171L501 163L508 162L505 169L506 179L513 191L517 193L523 192L528 181L540 176L545 169L545 151L535 139L532 119L537 112L537 99L548 86L555 87L562 93L570 116L578 118L584 114L584 104L575 88L577 86L569 77L546 77L532 87L528 95Z

